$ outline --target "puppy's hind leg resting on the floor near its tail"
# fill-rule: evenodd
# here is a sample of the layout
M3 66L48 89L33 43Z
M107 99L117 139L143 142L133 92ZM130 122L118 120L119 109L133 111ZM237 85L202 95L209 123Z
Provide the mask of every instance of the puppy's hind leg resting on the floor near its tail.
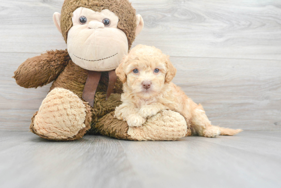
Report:
M191 127L193 134L204 137L216 137L220 135L219 127L211 125L201 104L192 110Z

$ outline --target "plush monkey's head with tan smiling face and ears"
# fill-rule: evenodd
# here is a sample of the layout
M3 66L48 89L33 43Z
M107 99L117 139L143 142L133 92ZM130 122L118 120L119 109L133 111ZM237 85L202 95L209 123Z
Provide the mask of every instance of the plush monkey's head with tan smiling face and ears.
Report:
M91 71L116 69L143 29L128 0L65 0L53 20L72 61Z

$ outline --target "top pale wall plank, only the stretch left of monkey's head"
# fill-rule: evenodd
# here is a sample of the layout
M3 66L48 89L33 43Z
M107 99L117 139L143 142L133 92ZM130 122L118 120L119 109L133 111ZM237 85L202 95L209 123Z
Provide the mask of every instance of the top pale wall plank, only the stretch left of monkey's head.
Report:
M42 53L66 49L52 15L61 12L63 0L1 0L0 52Z

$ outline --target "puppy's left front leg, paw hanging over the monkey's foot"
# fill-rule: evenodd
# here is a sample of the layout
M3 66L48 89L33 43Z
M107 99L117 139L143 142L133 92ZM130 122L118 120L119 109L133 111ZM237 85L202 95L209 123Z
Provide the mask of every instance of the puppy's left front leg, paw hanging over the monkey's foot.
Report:
M123 103L116 107L114 117L127 121L130 127L139 127L145 123L146 118L141 117L138 112L138 108L135 108L133 105Z

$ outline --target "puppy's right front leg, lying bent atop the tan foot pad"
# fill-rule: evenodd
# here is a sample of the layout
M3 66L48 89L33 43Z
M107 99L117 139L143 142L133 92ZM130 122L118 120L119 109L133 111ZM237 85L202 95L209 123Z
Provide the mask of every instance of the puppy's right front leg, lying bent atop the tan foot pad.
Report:
M139 111L139 115L143 118L155 116L161 110L168 109L166 106L159 102L155 102L149 105L143 105Z

